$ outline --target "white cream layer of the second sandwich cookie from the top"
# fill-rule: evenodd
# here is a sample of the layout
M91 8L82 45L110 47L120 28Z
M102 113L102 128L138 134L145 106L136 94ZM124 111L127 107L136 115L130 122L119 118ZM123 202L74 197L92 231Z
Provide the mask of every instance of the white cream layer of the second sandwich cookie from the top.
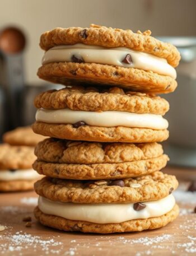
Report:
M136 114L122 111L77 111L71 109L38 109L36 121L53 124L75 124L83 121L99 127L137 127L156 130L167 129L168 122L161 115Z

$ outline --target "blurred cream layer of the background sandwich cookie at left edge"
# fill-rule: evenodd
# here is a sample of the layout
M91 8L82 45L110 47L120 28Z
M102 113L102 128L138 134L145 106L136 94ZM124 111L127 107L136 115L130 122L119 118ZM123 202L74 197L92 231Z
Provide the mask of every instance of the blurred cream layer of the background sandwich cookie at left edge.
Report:
M40 175L33 169L24 169L24 170L0 170L0 180L9 181L9 180L34 180L39 179Z

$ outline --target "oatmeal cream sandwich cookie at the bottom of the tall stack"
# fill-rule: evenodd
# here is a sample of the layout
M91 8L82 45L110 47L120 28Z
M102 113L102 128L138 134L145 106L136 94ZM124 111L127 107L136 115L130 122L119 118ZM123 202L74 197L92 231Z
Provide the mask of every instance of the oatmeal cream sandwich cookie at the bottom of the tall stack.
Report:
M172 196L175 176L157 171L120 180L88 181L44 178L35 217L64 231L113 233L157 229L173 221L179 208Z

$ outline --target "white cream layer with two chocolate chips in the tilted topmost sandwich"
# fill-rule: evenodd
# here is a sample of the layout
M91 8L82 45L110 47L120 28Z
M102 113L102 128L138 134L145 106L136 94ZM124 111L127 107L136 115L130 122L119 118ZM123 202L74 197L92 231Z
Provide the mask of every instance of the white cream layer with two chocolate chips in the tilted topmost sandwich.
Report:
M123 59L129 54L131 63L124 63ZM59 45L45 52L42 64L51 62L73 62L72 56L82 58L86 63L99 63L125 68L138 68L153 71L160 75L176 78L175 69L164 58L149 53L142 53L125 47L105 48L96 45L74 44Z

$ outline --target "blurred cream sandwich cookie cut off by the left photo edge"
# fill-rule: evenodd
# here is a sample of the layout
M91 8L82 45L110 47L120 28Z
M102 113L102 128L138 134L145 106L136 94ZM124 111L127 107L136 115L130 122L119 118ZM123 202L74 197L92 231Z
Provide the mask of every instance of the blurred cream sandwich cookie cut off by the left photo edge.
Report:
M34 147L0 145L0 192L34 188L41 176L32 169Z

